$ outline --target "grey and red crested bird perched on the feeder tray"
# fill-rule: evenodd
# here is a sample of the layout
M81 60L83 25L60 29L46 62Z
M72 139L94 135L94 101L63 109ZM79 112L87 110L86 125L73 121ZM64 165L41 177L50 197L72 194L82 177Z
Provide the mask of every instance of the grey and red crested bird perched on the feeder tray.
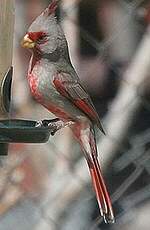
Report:
M22 40L32 51L28 83L33 97L70 128L79 141L90 170L100 214L114 222L111 201L101 174L95 141L95 126L103 131L94 105L71 64L68 44L52 0L38 16Z

